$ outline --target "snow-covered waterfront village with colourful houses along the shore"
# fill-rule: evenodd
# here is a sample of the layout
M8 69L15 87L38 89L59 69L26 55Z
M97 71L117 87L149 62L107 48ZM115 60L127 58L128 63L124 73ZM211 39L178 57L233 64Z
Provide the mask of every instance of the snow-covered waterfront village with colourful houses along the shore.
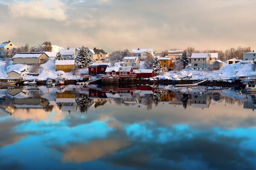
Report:
M45 42L17 51L11 41L0 44L1 85L129 85L172 84L194 87L205 82L256 76L256 52L222 61L218 52L154 51L153 48L105 52L101 48L62 48Z

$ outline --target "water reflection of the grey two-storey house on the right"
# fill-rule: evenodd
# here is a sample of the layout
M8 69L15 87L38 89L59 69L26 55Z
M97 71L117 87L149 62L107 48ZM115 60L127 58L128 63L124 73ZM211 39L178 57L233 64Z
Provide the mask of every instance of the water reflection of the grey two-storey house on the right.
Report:
M208 93L192 93L191 94L191 105L193 108L209 108L210 105L210 94Z

